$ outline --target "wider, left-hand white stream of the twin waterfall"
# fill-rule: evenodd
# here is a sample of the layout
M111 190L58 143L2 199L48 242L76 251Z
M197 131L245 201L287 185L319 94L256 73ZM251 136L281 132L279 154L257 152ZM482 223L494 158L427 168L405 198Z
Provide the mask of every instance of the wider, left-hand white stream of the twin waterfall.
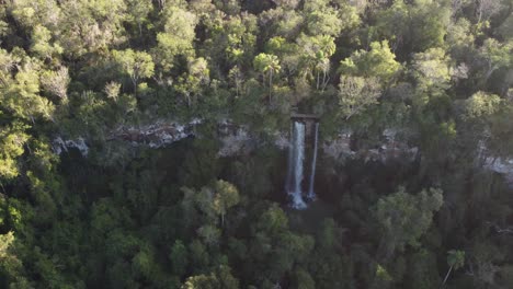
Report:
M290 138L293 139L292 148L289 149L292 151L292 153L289 153L292 160L289 160L290 166L288 169L290 178L287 180L287 193L293 197L292 207L295 209L304 209L306 208L306 204L305 200L303 200L301 182L305 159L305 124L295 122Z

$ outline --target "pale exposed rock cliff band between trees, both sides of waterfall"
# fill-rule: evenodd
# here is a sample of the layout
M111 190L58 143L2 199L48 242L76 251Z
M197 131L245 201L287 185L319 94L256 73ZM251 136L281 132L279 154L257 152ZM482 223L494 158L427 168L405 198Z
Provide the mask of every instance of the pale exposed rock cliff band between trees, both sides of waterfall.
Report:
M201 134L195 130L195 127L201 123L202 119L193 119L186 124L159 120L138 127L118 127L111 131L107 141L122 140L133 148L148 147L158 149L191 136L201 138ZM250 132L247 126L237 125L230 120L219 122L216 132L221 143L218 151L220 158L244 155L258 149L261 144L261 141ZM322 140L319 143L319 151L321 155L332 158L338 162L344 162L347 159L381 162L391 159L413 161L419 153L419 149L397 140L396 135L395 129L386 129L383 132L383 141L377 148L353 150L351 148L352 132L342 131L334 138ZM276 131L271 139L280 150L286 150L289 147L288 134ZM66 152L71 148L78 149L83 157L89 153L88 141L81 137L68 140L56 137L53 148L56 154ZM513 188L513 160L503 160L492 155L485 158L485 160L483 167L503 174Z

